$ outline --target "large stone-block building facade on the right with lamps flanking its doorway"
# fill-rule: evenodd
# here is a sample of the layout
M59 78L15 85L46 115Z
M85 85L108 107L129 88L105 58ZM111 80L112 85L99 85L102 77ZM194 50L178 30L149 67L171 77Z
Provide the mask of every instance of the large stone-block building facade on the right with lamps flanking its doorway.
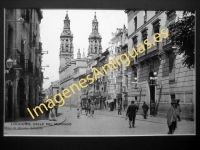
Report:
M194 112L195 74L194 69L182 65L182 55L175 55L171 41L165 37L168 26L175 22L177 11L126 10L128 16L128 50L139 49L147 39L152 45L144 44L145 51L132 59L127 68L128 100L149 105L157 104L157 114L166 115L171 100L180 99L183 117L192 117ZM166 36L167 37L167 36ZM138 52L138 51L137 51ZM151 114L151 110L149 111Z

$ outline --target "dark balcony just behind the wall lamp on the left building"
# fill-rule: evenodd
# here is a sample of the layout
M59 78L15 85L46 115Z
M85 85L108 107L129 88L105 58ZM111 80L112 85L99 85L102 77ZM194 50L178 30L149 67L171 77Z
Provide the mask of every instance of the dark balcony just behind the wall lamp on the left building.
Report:
M15 65L13 68L24 69L24 54L18 49L6 48L6 58L11 58L15 61Z

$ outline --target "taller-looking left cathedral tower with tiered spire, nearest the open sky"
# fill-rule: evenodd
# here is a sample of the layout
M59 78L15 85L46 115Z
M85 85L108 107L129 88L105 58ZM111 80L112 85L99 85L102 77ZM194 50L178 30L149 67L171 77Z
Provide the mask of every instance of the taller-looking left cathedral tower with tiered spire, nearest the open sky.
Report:
M63 31L60 35L60 71L64 70L74 58L73 34L70 30L68 12L65 16Z

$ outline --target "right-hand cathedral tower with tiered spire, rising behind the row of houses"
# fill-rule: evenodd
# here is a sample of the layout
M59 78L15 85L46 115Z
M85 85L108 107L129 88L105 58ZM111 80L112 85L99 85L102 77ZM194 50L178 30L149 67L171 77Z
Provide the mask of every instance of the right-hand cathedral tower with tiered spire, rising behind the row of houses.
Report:
M98 32L98 21L96 18L96 12L94 15L94 19L92 21L92 33L90 34L88 39L89 39L88 56L93 56L102 53L102 47L101 47L102 38Z

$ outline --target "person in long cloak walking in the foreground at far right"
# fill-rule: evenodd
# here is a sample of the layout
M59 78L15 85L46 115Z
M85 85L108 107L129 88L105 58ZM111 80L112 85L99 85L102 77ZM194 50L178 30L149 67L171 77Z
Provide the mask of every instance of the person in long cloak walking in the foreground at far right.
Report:
M171 107L167 111L167 125L169 128L168 134L173 134L177 128L176 101L172 100Z

